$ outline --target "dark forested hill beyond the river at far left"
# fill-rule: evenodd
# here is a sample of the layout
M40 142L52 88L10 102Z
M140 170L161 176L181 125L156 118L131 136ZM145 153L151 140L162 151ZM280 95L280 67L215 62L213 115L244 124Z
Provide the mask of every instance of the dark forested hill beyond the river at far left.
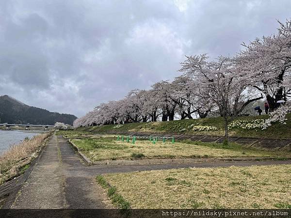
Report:
M55 122L73 124L77 119L71 114L49 112L46 109L28 106L8 95L0 96L0 123L54 125Z

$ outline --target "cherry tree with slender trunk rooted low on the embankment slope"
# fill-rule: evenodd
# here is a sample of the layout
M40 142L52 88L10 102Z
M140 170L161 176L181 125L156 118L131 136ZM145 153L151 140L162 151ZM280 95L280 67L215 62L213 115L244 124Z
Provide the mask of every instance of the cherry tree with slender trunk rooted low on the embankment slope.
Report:
M249 85L242 82L239 71L231 58L218 57L208 62L206 54L186 57L180 72L191 76L197 89L197 95L208 98L219 109L225 122L225 137L228 140L228 124L237 117L251 102L262 96L253 97Z

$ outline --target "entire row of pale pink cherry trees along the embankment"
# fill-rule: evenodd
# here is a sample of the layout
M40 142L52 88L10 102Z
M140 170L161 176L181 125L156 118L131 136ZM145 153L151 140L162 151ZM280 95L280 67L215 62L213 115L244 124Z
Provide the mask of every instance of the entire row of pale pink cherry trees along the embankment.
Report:
M228 123L251 102L266 98L274 111L278 100L291 94L291 20L279 22L276 34L257 38L235 57L211 61L206 54L186 56L174 81L161 81L150 90L132 90L119 101L98 105L74 126L126 124L224 117ZM290 111L287 103L278 111ZM275 112L270 120L276 120ZM270 122L269 120L269 122Z

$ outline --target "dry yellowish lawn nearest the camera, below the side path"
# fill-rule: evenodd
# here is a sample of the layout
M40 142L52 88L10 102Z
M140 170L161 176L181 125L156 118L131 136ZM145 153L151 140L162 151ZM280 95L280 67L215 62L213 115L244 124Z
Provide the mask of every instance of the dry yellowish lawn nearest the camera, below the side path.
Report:
M273 165L113 173L97 182L111 185L121 208L291 209L290 178L291 165Z

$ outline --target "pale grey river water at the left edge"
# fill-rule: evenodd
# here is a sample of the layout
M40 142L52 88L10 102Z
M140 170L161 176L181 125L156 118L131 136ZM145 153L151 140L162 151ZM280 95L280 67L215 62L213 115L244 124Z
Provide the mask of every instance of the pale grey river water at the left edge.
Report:
M24 140L25 137L32 138L42 132L38 130L0 130L0 155L11 145L18 144L21 140Z

